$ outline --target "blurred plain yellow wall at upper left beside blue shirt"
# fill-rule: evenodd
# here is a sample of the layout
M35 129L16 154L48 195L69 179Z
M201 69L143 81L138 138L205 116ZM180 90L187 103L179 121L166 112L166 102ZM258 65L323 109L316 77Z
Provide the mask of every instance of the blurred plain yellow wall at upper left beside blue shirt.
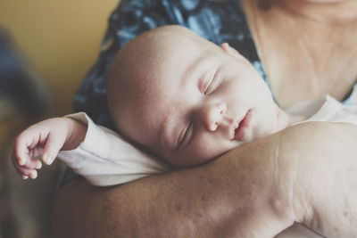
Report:
M7 29L54 96L54 114L71 112L72 96L95 62L107 19L119 0L0 0Z

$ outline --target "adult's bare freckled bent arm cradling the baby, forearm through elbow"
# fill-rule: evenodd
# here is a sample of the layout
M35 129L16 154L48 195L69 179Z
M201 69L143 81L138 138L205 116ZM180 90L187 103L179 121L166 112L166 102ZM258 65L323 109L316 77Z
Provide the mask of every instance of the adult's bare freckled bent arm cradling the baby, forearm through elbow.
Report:
M201 167L115 187L72 181L56 197L54 237L272 237L295 221L351 237L356 144L354 126L305 123Z

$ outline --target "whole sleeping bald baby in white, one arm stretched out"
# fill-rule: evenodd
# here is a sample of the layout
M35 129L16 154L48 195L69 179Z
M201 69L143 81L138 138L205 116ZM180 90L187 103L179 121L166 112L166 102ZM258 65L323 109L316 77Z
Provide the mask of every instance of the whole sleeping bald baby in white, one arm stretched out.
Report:
M326 95L286 111L240 53L179 26L146 31L125 45L111 65L108 106L117 132L83 112L46 119L16 138L12 162L36 178L41 160L55 158L93 185L213 160L237 146L304 121L357 125L357 106Z

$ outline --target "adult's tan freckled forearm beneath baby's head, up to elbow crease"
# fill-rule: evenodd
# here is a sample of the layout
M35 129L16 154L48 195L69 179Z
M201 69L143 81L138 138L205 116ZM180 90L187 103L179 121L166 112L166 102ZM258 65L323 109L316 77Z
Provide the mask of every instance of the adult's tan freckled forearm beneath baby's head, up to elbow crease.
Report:
M294 222L295 168L279 144L270 135L202 167L118 187L72 182L57 195L54 237L271 237Z

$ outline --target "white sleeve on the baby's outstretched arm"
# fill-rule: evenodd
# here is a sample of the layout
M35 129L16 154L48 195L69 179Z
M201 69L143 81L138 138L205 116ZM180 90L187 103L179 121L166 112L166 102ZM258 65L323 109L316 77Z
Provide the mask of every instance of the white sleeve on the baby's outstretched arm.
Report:
M95 125L86 113L66 117L86 125L87 132L78 148L62 151L57 158L90 184L120 185L170 170L166 163L138 150L118 133Z

